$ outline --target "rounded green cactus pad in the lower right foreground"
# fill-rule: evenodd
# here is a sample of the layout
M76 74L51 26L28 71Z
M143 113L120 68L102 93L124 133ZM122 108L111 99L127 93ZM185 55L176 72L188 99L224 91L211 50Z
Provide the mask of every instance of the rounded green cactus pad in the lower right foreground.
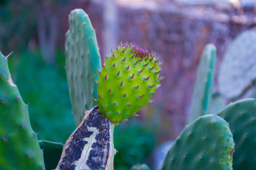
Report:
M217 115L204 115L182 130L162 169L233 170L234 145L228 123Z

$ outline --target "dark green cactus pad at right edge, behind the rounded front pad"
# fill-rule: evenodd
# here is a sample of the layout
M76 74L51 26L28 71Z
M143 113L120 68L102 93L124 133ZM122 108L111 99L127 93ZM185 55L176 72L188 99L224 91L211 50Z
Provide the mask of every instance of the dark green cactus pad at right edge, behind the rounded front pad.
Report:
M234 170L255 170L256 167L256 100L245 99L231 103L218 113L229 122L236 142L233 155Z

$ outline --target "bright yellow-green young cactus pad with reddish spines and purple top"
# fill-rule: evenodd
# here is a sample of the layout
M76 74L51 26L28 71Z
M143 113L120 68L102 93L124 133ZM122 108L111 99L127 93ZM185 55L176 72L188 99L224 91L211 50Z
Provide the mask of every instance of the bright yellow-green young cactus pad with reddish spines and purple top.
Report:
M159 58L132 43L120 43L102 64L97 84L100 112L112 122L125 122L152 102L159 87Z

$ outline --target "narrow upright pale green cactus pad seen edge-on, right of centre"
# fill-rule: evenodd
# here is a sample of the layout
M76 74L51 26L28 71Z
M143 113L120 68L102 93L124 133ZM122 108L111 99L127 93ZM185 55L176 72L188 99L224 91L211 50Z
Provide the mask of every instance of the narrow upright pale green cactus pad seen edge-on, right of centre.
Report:
M199 116L207 114L214 85L215 62L216 47L212 44L207 44L197 68L191 115L189 116L188 123L191 123Z

